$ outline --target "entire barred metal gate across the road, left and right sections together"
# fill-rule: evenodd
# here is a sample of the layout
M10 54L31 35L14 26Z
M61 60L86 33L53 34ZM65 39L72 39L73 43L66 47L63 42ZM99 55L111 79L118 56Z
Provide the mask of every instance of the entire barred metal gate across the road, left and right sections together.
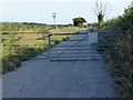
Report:
M51 30L54 28L50 28ZM86 61L102 60L102 54L106 47L112 47L110 40L114 38L102 37L108 32L79 32L79 33L49 33L43 32L0 32L3 53L16 58L45 59L47 61ZM94 34L94 37L93 37ZM27 36L27 38L25 38ZM59 38L60 37L60 38ZM103 41L105 44L95 44Z

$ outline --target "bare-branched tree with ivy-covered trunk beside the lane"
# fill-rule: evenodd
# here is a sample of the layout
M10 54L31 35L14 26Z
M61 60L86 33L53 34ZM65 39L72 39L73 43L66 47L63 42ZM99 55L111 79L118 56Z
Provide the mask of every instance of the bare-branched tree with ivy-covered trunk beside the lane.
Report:
M111 10L110 6L108 6L105 2L95 2L94 12L98 16L99 24L102 24L104 22L104 17L108 14L108 12Z

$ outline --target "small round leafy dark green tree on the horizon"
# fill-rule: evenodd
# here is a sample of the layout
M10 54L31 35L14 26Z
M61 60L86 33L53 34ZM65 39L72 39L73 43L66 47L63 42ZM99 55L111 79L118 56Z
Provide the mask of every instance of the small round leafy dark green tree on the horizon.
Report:
M81 17L73 19L73 24L76 26L76 27L82 28L82 27L84 27L83 23L85 23L85 22L86 22L86 20L84 18L81 18Z

